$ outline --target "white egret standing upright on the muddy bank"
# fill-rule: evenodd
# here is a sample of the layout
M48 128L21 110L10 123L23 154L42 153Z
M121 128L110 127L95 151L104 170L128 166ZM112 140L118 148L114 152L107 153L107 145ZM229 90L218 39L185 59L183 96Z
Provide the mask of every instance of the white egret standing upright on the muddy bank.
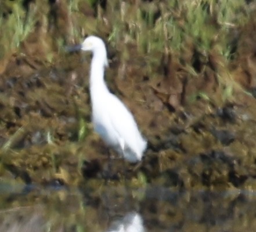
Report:
M92 52L89 89L94 130L124 159L131 163L140 161L147 142L140 134L134 116L116 95L110 93L104 82L104 69L108 62L103 40L88 36L75 49Z

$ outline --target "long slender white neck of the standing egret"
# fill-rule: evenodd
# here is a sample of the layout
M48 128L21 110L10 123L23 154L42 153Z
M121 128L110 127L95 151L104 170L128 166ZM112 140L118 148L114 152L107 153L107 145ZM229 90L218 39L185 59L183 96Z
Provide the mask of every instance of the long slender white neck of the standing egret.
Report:
M91 100L95 101L98 96L109 91L104 82L104 69L107 65L106 49L103 47L93 51L90 76Z

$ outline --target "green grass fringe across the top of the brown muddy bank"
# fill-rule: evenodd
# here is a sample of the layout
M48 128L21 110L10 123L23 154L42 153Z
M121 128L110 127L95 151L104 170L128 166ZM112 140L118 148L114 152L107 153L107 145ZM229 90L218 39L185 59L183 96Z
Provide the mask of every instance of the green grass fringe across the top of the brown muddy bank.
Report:
M86 6L84 3L82 0L67 1L66 6L63 3L63 7L67 8L67 18L71 19L72 24L70 30L66 30L70 34L67 38L78 42L85 34L103 36L109 46L120 51L118 58L122 62L128 61L132 56L147 57L145 60L150 67L148 70L156 70L152 67L160 65L159 54L171 52L190 78L203 76L200 72L204 72L204 69L195 69L195 54L200 57L202 65L208 65L212 53L217 54L221 57L217 62L218 67L228 70L229 62L236 57L236 51L232 50L232 31L243 27L253 17L245 0L170 0L140 2L138 5L113 0L107 2L106 9L98 6L99 1L88 0ZM3 12L12 12L0 17L0 48L3 58L4 54L14 53L19 49L21 42L33 33L35 21L40 20L37 17L39 6L48 9L48 13L50 8L49 5L45 6L48 3L36 2L35 7L31 8L33 10L26 12L21 1L6 1L1 4ZM82 13L89 6L95 11L95 17ZM44 19L47 20L46 17ZM66 39L60 34L53 42L61 51L60 47L64 46ZM129 45L136 46L138 54L131 54ZM185 56L189 53L192 54L192 59L186 60ZM46 58L50 62L54 60L50 52ZM214 71L217 72L219 83L226 83L225 75L219 72L218 67ZM157 75L152 75L154 76ZM228 95L233 93L225 91Z

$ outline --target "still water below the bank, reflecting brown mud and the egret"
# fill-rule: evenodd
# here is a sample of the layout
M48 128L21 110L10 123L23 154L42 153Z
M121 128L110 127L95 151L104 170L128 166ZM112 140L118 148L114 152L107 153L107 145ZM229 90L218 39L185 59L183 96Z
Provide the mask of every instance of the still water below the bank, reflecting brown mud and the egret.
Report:
M255 192L0 186L0 231L255 231ZM133 215L133 216L131 216ZM141 219L141 220L140 220ZM141 222L142 224L138 224ZM136 224L137 223L137 224ZM36 228L36 230L35 230ZM113 229L114 228L114 229ZM135 228L135 229L134 229ZM136 232L136 231L135 231Z

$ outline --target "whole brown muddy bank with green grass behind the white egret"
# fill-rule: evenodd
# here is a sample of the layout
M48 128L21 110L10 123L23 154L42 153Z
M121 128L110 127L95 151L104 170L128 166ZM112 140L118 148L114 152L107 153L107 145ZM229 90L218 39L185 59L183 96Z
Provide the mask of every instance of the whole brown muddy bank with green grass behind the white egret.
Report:
M63 49L97 34L110 50L110 89L150 143L136 171L127 164L127 179L176 189L250 188L254 2L11 2L1 10L0 30L16 31L5 23L19 20L22 36L14 48L0 40L8 51L0 60L2 179L102 181L106 146L91 128L89 62L81 62L88 57ZM122 168L114 161L117 180Z

